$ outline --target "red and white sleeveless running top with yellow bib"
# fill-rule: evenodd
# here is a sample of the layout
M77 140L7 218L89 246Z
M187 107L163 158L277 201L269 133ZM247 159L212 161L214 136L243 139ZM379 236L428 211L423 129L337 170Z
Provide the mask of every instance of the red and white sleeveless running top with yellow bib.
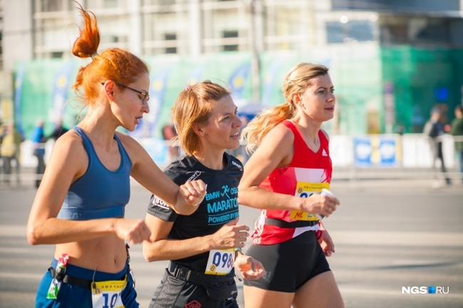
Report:
M320 193L323 188L329 189L333 166L326 135L321 130L318 131L320 148L318 152L313 152L308 148L303 135L293 122L286 120L283 121L283 124L294 134L293 159L288 166L272 171L262 181L260 187L301 198L307 198L313 193ZM275 220L283 221L283 223L303 221L307 225L297 228L282 228L279 224L269 223L269 221ZM303 211L264 209L261 210L256 221L251 238L255 245L271 245L282 243L303 232L319 229L318 219L312 214Z

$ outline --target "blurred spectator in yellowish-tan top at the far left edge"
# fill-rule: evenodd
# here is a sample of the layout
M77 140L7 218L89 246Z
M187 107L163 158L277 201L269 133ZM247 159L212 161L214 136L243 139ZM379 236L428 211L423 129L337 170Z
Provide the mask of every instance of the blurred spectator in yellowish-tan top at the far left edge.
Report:
M4 174L6 175L5 181L10 182L11 176L11 161L16 162L16 174L19 174L19 150L21 149L21 142L24 137L16 129L13 122L9 122L3 129L3 138L1 139L0 154L3 160ZM19 179L19 177L18 177Z

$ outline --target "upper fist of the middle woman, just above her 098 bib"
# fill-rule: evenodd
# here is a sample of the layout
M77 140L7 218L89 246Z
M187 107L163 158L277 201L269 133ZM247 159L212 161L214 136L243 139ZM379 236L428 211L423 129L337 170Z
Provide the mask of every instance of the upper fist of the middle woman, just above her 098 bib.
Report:
M210 235L212 237L211 249L229 249L243 248L246 239L249 237L249 227L246 225L236 225L239 218L229 221L222 226L216 233Z

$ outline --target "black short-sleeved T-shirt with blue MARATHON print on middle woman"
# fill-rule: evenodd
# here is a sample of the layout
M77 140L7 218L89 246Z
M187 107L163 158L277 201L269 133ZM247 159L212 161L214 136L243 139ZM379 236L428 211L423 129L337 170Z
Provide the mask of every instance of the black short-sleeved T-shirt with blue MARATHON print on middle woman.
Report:
M173 221L169 238L184 240L215 233L225 223L239 217L238 184L243 176L243 164L227 153L224 154L225 168L209 169L193 156L183 156L167 166L165 174L177 185L186 181L201 179L207 184L207 193L192 215L175 213L157 196L152 196L147 213L164 221ZM190 270L206 270L209 252L175 260L175 263ZM172 260L174 261L174 260Z

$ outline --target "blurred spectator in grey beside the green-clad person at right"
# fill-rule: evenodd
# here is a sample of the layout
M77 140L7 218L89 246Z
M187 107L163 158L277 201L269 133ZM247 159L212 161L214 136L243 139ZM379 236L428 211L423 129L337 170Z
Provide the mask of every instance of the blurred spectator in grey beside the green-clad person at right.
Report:
M452 180L447 175L447 169L445 168L444 155L442 153L442 135L444 134L444 125L442 124L442 110L439 108L433 108L431 110L430 120L427 120L423 134L429 137L430 146L432 150L432 168L435 168L436 160L440 161L440 169L444 174L445 182L447 185L452 184Z

